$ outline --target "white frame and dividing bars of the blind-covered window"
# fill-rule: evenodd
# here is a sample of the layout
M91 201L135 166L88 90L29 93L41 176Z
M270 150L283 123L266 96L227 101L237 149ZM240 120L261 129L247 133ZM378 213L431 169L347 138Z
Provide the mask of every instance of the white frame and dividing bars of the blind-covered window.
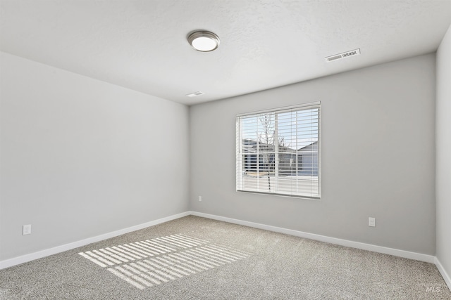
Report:
M303 110L307 111L307 110L314 110L314 109L317 109L317 117L316 117L316 119L312 119L312 121L309 123L309 126L312 126L312 124L313 124L313 126L315 126L315 124L317 124L318 129L317 129L316 133L317 133L318 137L317 137L316 141L314 141L313 143L310 144L310 145L314 145L314 143L316 143L316 146L314 146L314 147L317 148L316 152L312 152L312 167L311 167L311 177L312 178L310 180L307 180L308 184L311 185L311 193L303 193L302 191L299 191L299 190L297 190L297 191L283 190L283 189L281 190L279 188L278 181L280 180L280 178L283 178L283 177L280 176L280 174L278 174L280 169L279 169L278 163L276 163L276 162L275 162L275 166L273 167L274 170L276 170L276 169L278 170L278 171L274 171L274 183L276 184L276 190L271 191L271 188L269 188L269 190L263 190L263 189L259 190L258 182L259 182L259 180L261 180L261 177L263 177L263 176L260 177L260 175L259 175L259 167L257 167L257 178L258 178L257 179L257 188L252 188L252 189L245 188L243 186L242 178L243 178L243 176L247 176L247 174L243 174L243 172L245 171L245 169L243 168L243 164L247 164L247 160L244 157L245 157L245 155L248 155L248 154L245 154L245 152L242 152L243 145L244 145L243 144L243 141L244 141L243 126L242 126L243 118L244 117L256 117L257 118L259 116L266 115L266 114L274 115L274 131L273 131L274 132L273 133L274 150L266 151L266 152L270 156L274 155L274 157L278 157L277 160L280 161L281 158L280 158L280 156L278 156L280 154L280 152L278 152L278 149L281 146L279 145L279 142L277 142L277 143L275 142L275 141L279 141L279 139L278 139L278 135L279 135L278 116L285 112L299 112L299 111L303 111ZM299 116L295 117L296 122L299 122L299 119L300 119ZM280 197L299 197L299 198L307 198L307 199L311 199L311 200L321 199L321 101L317 101L317 102L313 102L313 103L304 103L304 104L300 104L300 105L292 105L292 106L287 106L287 107L278 107L278 108L273 108L273 109L269 109L269 110L259 110L256 112L241 113L241 114L236 115L235 122L236 122L235 190L238 193L257 193L259 195L277 195ZM255 124L258 124L258 123L259 123L259 121L255 122ZM296 123L296 126L299 126L299 123ZM258 135L261 133L257 132L256 134L257 134L257 140L259 140ZM280 136L282 136L282 135L280 134ZM292 135L290 137L292 137ZM252 141L249 138L247 138L246 140ZM257 143L257 148L259 149L259 141L254 141L254 142ZM266 145L268 146L270 144L266 144ZM306 145L304 147L307 147L307 146L309 146L309 145ZM282 147L284 147L284 146L282 146ZM302 182L299 179L299 170L297 169L299 166L299 150L301 150L301 149L302 148L295 149L294 152L288 152L288 151L286 152L286 153L290 153L291 155L293 153L295 153L295 159L296 159L295 160L296 161L296 170L295 170L296 171L296 173L295 173L296 179L295 179L295 181L296 181L297 186L298 186L299 182ZM314 159L315 154L317 155L317 159L316 159L316 165L317 165L316 172L317 172L317 178L318 178L317 183L315 183L315 179L313 178L314 170L315 170L313 159ZM257 150L257 153L254 154L254 156L256 156L254 160L257 161L257 166L259 165L259 160L260 160L259 155L261 155L261 154ZM252 158L252 155L249 155L249 157ZM303 159L304 157L300 156L300 158ZM290 162L290 164L291 164L291 162ZM268 170L270 170L268 166L266 166L266 168ZM271 186L271 180L270 180L269 173L270 173L270 171L268 171L268 185ZM316 188L316 187L317 187L317 193L316 193L316 189L315 189L315 192L313 192L314 188Z

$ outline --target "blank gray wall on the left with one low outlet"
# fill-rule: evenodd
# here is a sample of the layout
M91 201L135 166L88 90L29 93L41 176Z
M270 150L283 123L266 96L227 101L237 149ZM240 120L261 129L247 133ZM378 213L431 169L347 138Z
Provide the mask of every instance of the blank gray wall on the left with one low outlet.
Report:
M187 211L185 105L6 53L0 98L0 261Z

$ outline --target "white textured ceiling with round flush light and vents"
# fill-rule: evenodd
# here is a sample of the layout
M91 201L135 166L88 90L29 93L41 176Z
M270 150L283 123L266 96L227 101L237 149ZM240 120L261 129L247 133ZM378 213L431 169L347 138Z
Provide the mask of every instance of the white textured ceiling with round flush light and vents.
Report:
M1 51L187 105L431 53L451 22L451 0L0 1Z

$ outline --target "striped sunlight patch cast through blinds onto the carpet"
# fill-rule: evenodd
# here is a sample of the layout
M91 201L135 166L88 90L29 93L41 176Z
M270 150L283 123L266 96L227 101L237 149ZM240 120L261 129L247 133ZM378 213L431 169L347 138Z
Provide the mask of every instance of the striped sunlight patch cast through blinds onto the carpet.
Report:
M138 289L161 285L252 256L248 252L181 233L79 254Z

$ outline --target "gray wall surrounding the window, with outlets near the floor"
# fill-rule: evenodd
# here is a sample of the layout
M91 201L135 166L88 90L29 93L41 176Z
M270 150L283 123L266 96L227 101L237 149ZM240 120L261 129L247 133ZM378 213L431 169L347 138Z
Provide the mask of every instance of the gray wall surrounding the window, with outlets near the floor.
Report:
M317 100L321 200L236 193L235 115ZM190 134L194 211L435 255L434 54L194 105Z

